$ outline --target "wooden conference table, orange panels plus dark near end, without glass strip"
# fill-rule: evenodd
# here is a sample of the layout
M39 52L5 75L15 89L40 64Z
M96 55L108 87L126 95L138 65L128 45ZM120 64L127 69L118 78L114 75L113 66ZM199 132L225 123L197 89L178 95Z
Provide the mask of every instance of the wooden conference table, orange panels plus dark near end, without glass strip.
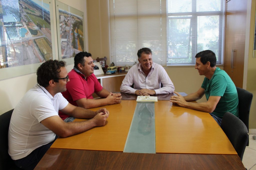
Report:
M156 154L124 153L137 103L136 96L122 96L120 104L105 106L105 126L58 138L35 169L245 169L208 113L172 105L168 95L155 103Z

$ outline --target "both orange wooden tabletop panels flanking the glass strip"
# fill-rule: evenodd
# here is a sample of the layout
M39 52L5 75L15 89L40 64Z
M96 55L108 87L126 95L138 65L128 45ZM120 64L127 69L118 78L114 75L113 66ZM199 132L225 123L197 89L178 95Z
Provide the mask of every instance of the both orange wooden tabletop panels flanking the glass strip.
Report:
M110 111L105 126L58 138L51 148L123 152L136 101L122 100L105 107ZM157 153L237 154L220 126L205 112L158 101L155 127Z

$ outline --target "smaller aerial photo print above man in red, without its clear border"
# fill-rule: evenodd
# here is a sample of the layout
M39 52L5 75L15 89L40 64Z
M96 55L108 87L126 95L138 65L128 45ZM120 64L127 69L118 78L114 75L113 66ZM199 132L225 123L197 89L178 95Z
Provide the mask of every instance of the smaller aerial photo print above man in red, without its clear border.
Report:
M61 57L74 57L84 51L83 18L59 9Z

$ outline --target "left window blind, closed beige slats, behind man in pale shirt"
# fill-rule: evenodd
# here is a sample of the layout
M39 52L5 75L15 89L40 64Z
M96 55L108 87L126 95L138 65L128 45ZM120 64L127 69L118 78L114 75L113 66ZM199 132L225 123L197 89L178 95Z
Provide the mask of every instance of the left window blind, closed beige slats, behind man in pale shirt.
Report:
M153 61L166 63L166 27L161 0L110 0L111 62L133 65L140 48L152 50ZM163 28L164 27L164 28ZM164 33L165 34L165 33Z

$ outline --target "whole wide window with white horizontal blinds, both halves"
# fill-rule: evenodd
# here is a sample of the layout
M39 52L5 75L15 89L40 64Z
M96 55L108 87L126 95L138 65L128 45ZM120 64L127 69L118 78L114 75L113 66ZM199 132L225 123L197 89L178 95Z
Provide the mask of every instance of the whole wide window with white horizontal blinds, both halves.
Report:
M223 64L224 0L109 0L111 62L133 65L142 47L161 65L194 65L212 50Z

